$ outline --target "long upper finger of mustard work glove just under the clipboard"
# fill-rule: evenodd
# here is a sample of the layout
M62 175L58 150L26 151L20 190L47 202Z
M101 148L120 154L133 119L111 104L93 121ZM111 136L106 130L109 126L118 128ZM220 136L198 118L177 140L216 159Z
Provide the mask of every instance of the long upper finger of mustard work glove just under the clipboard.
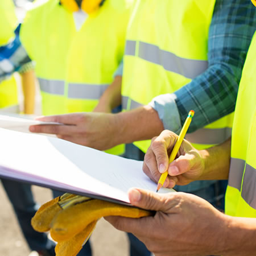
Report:
M73 205L57 214L51 224L51 236L53 240L61 242L80 233L90 222L101 217L140 218L151 214L152 212L147 210L92 199L82 204Z

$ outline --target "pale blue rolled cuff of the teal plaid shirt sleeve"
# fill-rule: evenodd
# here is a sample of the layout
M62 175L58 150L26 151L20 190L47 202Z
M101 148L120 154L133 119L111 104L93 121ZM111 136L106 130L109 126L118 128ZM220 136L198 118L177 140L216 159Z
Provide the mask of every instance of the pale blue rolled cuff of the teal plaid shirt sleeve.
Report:
M174 131L174 133L179 134L181 130L181 121L175 99L175 94L162 94L153 98L148 105L158 112L164 129Z

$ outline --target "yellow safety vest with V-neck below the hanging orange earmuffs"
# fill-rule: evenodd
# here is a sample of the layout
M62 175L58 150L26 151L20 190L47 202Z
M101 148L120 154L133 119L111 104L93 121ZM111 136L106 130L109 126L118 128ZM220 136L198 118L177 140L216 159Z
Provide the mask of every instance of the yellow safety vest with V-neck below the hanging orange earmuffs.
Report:
M58 0L28 12L21 38L42 93L44 115L92 112L122 59L133 0L106 0L76 31ZM108 150L121 155L124 145Z

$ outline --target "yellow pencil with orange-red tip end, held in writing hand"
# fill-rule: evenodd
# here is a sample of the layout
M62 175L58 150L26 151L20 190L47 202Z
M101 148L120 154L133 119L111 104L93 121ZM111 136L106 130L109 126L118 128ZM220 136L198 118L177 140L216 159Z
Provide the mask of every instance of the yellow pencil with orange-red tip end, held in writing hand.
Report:
M188 117L184 122L184 125L180 131L179 137L177 139L177 142L174 146L174 149L171 152L170 158L169 158L169 164L175 159L176 155L177 155L177 151L179 151L180 145L185 137L185 134L187 133L188 127L191 123L192 117L195 114L194 110L190 110L188 113ZM159 191L160 188L163 187L164 181L166 180L166 177L168 176L168 171L164 172L159 181L158 181L158 188L156 189L156 192Z

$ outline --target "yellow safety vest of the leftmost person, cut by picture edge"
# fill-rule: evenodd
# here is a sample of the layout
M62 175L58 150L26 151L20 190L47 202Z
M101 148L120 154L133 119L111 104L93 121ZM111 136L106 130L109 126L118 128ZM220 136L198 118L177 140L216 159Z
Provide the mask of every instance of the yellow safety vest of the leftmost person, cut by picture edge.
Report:
M0 46L13 38L17 25L14 3L12 0L0 1ZM14 76L0 83L0 111L18 113L18 91Z

